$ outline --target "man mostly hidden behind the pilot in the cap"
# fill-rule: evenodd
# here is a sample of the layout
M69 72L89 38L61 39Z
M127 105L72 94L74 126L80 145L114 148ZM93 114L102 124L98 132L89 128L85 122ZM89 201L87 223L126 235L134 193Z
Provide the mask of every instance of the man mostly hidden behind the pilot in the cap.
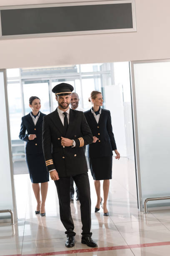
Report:
M74 110L84 111L82 108L79 107L79 97L76 92L72 92L71 94L71 101L70 101L71 108ZM85 152L85 146L83 147ZM79 200L79 193L77 186L75 186L74 190L74 180L70 177L70 202L74 201L74 193L76 192L76 200Z

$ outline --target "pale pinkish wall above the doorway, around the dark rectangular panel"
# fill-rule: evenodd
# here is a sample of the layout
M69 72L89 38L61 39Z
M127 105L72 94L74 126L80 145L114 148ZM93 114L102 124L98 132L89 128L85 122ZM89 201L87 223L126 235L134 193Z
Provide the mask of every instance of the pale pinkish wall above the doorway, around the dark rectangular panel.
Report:
M57 0L1 0L0 6L25 2ZM137 32L1 40L0 68L168 59L169 10L169 0L136 0Z

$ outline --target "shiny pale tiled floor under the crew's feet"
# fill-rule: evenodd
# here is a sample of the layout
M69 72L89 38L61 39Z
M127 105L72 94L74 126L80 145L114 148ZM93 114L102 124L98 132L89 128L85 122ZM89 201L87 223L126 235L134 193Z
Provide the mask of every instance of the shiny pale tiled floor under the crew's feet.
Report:
M169 256L170 210L144 215L137 208L133 163L113 161L108 199L109 217L94 213L96 194L89 172L92 199L92 238L98 248L81 243L80 202L71 203L76 243L65 247L65 228L60 222L57 192L49 182L46 217L35 215L36 202L28 174L15 175L18 223L0 223L0 256Z

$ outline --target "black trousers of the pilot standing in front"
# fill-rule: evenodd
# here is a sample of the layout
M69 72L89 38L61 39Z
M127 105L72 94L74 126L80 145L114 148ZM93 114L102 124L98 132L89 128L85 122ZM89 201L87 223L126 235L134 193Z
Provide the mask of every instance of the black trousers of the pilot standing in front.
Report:
M88 174L77 174L72 177L79 191L80 212L82 221L82 236L92 236L91 228L91 199L90 199L90 183ZM68 236L75 236L74 223L71 216L70 208L70 177L60 177L55 180L57 194L60 205L60 220L67 230Z

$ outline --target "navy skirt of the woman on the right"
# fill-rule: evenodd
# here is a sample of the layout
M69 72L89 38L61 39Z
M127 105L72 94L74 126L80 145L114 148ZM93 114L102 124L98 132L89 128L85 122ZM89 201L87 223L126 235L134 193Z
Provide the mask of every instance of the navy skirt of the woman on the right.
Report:
M112 156L89 157L89 165L93 179L112 179Z

